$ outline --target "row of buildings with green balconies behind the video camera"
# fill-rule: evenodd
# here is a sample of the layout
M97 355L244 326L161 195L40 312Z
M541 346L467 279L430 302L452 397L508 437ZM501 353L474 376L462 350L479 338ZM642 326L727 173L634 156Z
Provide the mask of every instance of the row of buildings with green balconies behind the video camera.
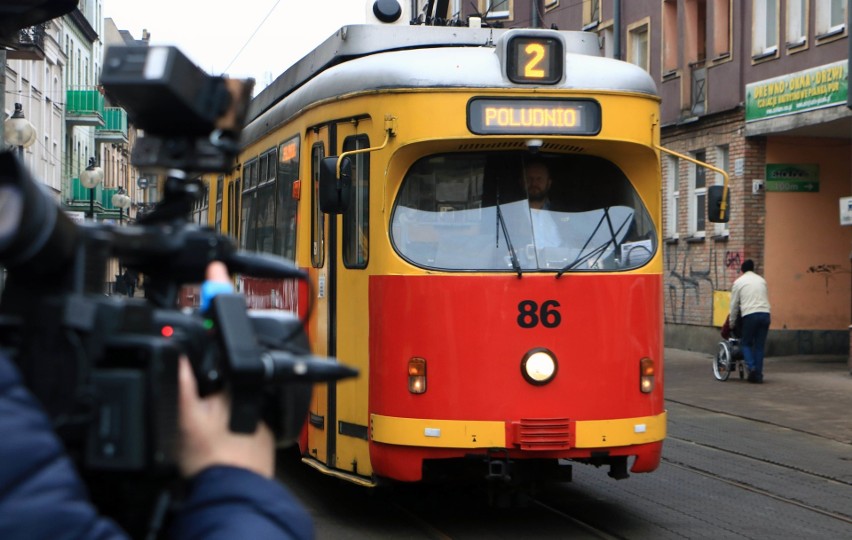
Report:
M18 149L35 179L72 219L122 224L158 197L157 183L139 182L130 163L136 136L126 111L112 106L99 84L104 52L113 44L145 45L147 35L133 39L103 18L100 0L85 0L67 15L12 36L0 66L6 116L20 109L35 129L34 141ZM103 171L92 189L80 181L90 164ZM122 200L114 199L117 193L132 204L116 204ZM108 276L118 272L117 261L113 266ZM111 279L104 287L112 290Z

